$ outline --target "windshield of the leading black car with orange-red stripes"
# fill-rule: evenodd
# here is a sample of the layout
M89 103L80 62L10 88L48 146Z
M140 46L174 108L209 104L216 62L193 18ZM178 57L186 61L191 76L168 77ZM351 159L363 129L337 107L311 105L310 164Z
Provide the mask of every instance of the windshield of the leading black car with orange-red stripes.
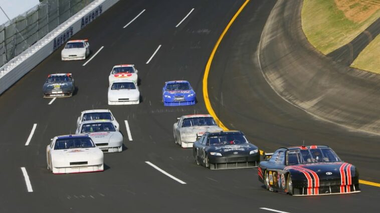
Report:
M312 148L289 150L287 164L297 165L314 162L340 162L340 158L331 148Z

